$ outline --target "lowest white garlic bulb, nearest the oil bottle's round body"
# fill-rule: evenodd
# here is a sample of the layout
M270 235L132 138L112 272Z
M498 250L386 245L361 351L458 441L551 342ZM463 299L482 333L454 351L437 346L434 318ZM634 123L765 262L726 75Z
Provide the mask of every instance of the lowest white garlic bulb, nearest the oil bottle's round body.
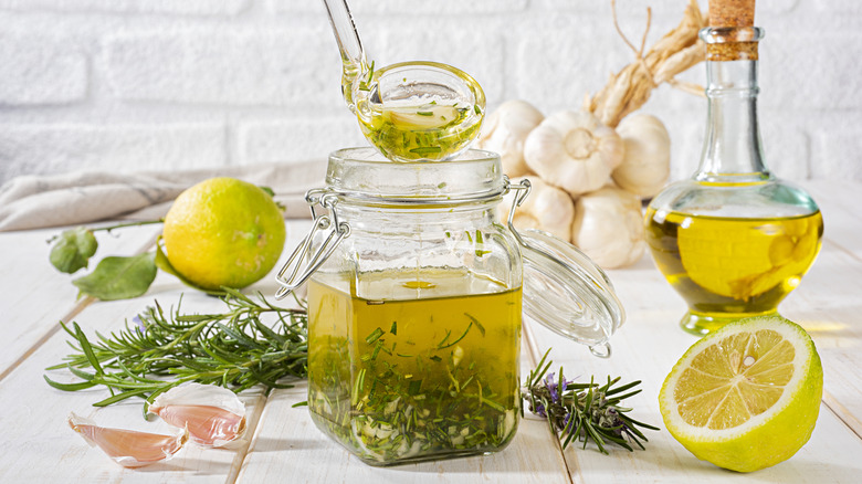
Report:
M603 269L638 262L646 248L641 200L612 186L579 198L571 242Z

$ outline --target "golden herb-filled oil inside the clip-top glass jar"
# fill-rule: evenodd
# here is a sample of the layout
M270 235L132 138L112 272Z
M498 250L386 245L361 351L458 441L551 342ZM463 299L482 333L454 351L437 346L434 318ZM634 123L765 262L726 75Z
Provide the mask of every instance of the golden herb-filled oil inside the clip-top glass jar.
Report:
M374 465L503 449L521 404L521 288L463 270L359 281L359 291L336 277L309 282L317 427ZM368 292L377 294L357 295Z

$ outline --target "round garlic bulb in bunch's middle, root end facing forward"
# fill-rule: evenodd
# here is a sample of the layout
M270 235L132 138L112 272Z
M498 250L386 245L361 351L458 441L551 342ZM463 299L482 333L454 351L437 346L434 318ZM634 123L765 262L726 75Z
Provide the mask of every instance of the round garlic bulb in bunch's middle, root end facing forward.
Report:
M524 143L527 166L548 183L577 197L601 188L622 162L617 131L587 112L560 112L542 122Z

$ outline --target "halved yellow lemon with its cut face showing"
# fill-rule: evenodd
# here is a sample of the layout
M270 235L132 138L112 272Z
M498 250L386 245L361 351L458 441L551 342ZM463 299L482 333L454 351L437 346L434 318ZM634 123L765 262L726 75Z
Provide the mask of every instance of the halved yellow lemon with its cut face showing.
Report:
M664 424L698 459L750 472L808 442L823 393L811 337L780 316L729 324L676 362L659 393Z

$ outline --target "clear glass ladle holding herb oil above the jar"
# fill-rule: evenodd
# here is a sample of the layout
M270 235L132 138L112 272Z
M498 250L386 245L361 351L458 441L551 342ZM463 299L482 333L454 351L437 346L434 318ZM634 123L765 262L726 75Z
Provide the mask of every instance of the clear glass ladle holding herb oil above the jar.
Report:
M428 61L368 64L347 0L323 0L341 52L341 93L366 138L393 161L442 161L467 148L485 94L465 72Z

